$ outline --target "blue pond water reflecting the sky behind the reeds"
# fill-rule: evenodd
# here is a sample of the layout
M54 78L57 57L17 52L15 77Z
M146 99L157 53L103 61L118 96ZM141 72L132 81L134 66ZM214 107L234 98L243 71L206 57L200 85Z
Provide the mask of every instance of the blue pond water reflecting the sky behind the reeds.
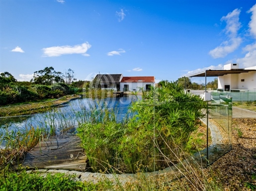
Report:
M141 96L138 96L138 98L141 99ZM31 127L48 129L55 127L58 133L61 129L77 126L79 123L86 121L85 113L89 111L90 108L99 108L98 111L100 111L102 106L110 109L113 108L117 120L121 120L126 116L132 100L136 99L137 97L133 95L101 100L93 100L91 98L75 99L63 105L63 107L57 107L45 113L22 117L0 118L0 124L5 124L0 127L0 132L4 134L4 127L8 127L7 129L9 131L13 130L15 132L28 130ZM6 120L6 122L3 120Z

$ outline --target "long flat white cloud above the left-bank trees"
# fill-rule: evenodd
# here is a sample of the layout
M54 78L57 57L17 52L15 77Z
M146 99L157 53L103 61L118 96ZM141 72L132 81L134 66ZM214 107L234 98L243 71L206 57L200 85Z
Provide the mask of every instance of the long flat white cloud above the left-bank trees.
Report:
M84 56L89 56L86 51L91 48L91 45L86 42L82 45L71 46L61 46L61 47L49 47L43 48L44 56L61 56L63 54L82 54Z

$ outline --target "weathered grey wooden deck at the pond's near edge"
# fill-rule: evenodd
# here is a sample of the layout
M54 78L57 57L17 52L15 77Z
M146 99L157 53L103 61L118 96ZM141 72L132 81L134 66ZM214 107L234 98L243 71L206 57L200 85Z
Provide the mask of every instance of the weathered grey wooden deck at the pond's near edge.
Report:
M44 139L25 155L22 166L85 171L86 156L80 144L75 135Z

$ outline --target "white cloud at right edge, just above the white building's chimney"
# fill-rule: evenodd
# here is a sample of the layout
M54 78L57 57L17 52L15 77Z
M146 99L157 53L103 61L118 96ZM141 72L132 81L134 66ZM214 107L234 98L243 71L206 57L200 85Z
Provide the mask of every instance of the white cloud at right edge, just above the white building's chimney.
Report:
M245 68L256 66L256 43L247 45L243 50L247 53L245 57L238 58L237 63L240 63Z

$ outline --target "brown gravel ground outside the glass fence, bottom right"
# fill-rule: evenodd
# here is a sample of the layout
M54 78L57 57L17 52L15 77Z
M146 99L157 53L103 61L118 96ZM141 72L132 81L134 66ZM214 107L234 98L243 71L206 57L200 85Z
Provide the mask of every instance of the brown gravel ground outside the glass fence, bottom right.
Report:
M224 191L256 191L256 118L233 119L233 149L205 169Z

